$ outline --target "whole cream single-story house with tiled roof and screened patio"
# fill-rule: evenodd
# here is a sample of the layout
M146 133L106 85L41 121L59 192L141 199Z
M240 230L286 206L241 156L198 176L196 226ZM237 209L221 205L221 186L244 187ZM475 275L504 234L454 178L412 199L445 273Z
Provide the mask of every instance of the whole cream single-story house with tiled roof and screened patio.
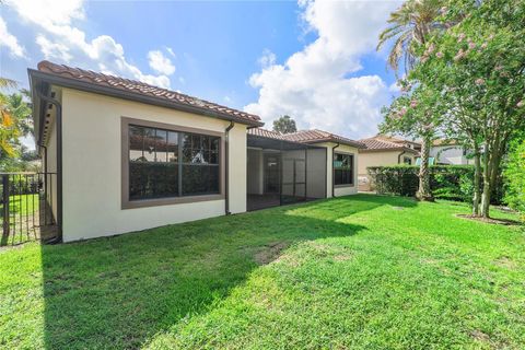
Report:
M357 192L357 141L48 61L28 74L65 242Z

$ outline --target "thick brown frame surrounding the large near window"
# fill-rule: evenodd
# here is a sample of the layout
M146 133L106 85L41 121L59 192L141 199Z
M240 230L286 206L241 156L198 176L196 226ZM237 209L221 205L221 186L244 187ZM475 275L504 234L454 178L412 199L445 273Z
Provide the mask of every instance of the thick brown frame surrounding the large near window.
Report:
M121 138L121 209L147 208L155 206L170 206L178 203L191 203L199 201L223 200L225 189L225 164L224 164L224 132L205 130L198 128L184 127L174 124L165 124L152 120L136 119L122 116L120 118L120 138ZM182 197L165 197L165 198L150 198L150 199L129 199L129 126L158 128L175 132L189 132L205 136L219 137L219 194L205 194ZM179 160L182 162L182 160ZM179 179L180 184L180 179Z

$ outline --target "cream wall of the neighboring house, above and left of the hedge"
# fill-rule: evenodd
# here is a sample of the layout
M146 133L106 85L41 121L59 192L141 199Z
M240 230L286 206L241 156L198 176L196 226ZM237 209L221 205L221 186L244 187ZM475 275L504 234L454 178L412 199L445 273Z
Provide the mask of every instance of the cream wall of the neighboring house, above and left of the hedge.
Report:
M373 185L371 184L371 178L366 168L369 166L388 166L388 165L397 165L399 164L399 154L402 151L381 151L381 152L360 152L359 153L359 167L358 167L358 176L359 176L359 190L369 191L373 190ZM405 156L409 156L412 161L412 165L416 164L416 154L406 152L401 155L401 164L402 159Z

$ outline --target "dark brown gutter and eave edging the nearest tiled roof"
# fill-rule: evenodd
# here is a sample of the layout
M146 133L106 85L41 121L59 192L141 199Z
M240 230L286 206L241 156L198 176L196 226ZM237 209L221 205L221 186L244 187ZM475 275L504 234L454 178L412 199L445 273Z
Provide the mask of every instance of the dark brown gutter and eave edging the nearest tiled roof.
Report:
M156 98L153 96L147 96L142 95L139 93L133 93L133 92L128 92L128 91L120 91L118 89L109 88L109 86L101 86L101 85L94 85L92 83L85 82L85 81L79 81L75 79L68 79L63 77L58 77L56 74L51 73L46 73L42 72L39 70L35 69L27 69L27 72L30 74L30 81L33 79L39 79L42 81L46 81L49 84L52 85L58 85L62 88L70 88L70 89L75 89L84 92L91 92L91 93L97 93L106 96L112 96L112 97L118 97L122 100L128 100L128 101L135 101L135 102L141 102L154 106L160 106L160 107L166 107L166 108L173 108L182 112L187 112L187 113L194 113L198 114L201 116L206 117L212 117L212 118L218 118L222 120L228 120L228 121L235 121L240 124L247 125L249 127L261 127L265 124L262 121L258 120L248 120L245 118L236 118L232 117L219 112L213 112L210 109L206 108L200 108L198 106L189 106L186 104L177 103L177 102L168 102L168 101L163 101L161 98ZM33 86L32 86L33 89Z

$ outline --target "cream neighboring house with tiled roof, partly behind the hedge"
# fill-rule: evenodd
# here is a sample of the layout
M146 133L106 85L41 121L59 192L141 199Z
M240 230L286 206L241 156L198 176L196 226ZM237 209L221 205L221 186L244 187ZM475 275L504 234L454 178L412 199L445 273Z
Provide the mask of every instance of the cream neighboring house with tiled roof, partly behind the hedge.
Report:
M397 164L415 165L421 144L398 138L377 135L359 140L365 149L359 150L358 180L359 190L373 190L368 173L369 166L388 166Z

